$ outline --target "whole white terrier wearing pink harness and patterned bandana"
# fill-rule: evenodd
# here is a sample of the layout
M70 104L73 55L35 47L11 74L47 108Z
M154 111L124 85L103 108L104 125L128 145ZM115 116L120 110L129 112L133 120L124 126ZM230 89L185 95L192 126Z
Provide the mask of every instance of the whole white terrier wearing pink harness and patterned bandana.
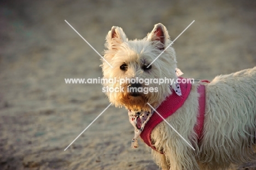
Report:
M115 81L103 88L129 111L133 148L141 137L162 169L226 169L255 160L256 67L211 83L188 81L170 44L162 24L141 40L128 40L115 26L107 34L101 67L103 78Z

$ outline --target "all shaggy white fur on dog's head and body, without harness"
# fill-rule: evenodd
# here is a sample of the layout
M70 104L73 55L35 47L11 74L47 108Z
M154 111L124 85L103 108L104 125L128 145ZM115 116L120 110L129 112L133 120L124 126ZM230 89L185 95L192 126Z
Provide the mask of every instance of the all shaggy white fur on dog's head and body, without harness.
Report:
M121 28L112 27L106 40L104 58L113 68L102 61L103 78L177 79L176 56L172 47L166 49L171 40L164 25L157 24L146 38L132 41ZM164 49L152 68L145 69ZM121 86L127 89L129 85ZM103 86L119 87L119 82ZM200 143L194 131L199 110L198 86L199 83L193 84L187 101L166 119L195 151L162 121L151 134L152 143L158 150L152 150L155 162L162 169L225 169L256 159L256 67L220 75L205 85L205 123ZM147 102L156 107L172 93L168 84L150 84L149 87L158 87L158 92L136 96L127 91L107 92L106 95L117 107L124 105L127 109L144 111L150 110Z

